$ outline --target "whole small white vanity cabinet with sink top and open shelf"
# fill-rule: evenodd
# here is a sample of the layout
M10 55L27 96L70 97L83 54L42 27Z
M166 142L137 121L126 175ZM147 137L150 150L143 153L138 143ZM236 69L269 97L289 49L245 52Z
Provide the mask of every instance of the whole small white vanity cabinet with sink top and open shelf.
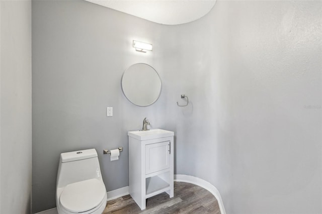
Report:
M174 196L174 132L132 131L129 138L129 192L141 209L145 199L167 192Z

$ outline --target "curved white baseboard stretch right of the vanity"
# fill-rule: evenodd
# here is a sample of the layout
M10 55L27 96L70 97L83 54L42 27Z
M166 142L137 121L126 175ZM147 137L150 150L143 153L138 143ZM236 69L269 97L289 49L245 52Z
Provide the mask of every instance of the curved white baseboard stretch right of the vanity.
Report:
M226 210L225 210L225 207L223 206L223 202L222 202L220 193L219 193L218 189L216 187L214 187L214 185L212 185L208 181L205 181L201 178L197 178L197 177L190 176L190 175L174 175L174 177L175 177L174 178L175 181L193 183L198 186L201 186L202 188L207 189L217 199L221 214L226 214Z

